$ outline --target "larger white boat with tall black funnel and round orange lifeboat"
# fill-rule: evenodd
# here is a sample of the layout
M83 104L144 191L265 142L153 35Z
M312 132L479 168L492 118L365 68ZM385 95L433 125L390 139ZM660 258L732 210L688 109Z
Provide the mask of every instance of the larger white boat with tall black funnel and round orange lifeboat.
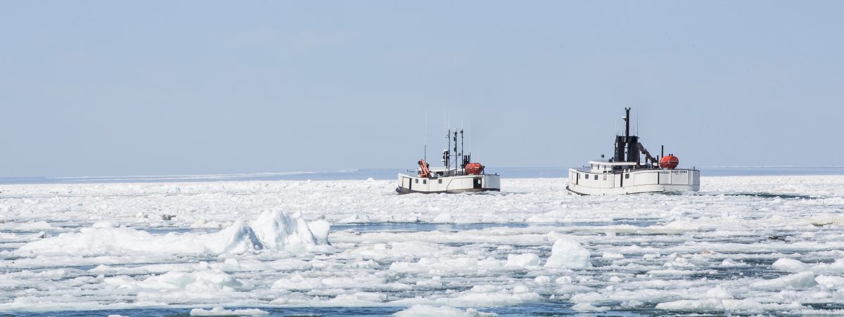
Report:
M565 189L581 195L701 189L700 170L677 169L679 159L674 154L663 156L664 151L660 153L659 160L654 159L639 142L639 137L630 135L630 108L625 108L622 118L625 135L615 136L614 157L589 161L589 166L569 169L569 185Z

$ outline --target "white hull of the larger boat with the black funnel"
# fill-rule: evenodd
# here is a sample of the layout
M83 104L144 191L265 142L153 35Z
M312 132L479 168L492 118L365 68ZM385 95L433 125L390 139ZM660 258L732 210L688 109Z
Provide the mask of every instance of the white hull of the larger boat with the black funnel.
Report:
M569 169L569 185L565 189L580 195L700 191L701 171L641 169L616 173L593 173L581 169Z

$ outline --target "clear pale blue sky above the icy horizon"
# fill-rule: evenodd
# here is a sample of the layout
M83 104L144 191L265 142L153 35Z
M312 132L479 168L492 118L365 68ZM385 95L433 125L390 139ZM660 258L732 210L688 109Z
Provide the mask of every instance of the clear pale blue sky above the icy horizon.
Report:
M0 175L842 165L840 1L0 2ZM467 146L467 152L469 147ZM432 166L438 165L433 162Z

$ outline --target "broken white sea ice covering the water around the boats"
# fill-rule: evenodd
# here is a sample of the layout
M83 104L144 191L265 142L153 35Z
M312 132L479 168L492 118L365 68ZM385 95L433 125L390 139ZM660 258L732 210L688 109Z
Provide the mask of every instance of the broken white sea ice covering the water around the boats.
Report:
M844 313L844 176L702 182L633 196L575 196L564 179L403 196L371 179L0 185L0 312Z

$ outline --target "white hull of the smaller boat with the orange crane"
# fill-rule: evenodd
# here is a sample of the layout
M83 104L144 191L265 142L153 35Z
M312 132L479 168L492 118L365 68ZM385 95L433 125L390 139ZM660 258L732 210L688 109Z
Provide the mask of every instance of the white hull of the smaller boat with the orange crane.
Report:
M398 187L396 188L396 191L400 194L439 194L500 190L500 175L489 174L431 178L399 174Z

